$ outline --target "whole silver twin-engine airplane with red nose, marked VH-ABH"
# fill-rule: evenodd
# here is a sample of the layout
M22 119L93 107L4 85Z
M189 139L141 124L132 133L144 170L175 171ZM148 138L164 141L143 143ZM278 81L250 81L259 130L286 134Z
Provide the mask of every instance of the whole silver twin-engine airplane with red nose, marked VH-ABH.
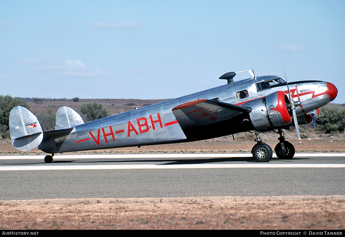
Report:
M248 79L234 81L236 73ZM239 132L256 138L252 148L257 162L268 162L273 150L259 133L274 131L279 142L274 151L280 159L292 159L294 146L283 129L295 126L299 141L301 124L315 123L315 111L333 101L337 88L330 82L287 82L278 76L255 76L254 70L228 72L219 79L225 85L187 96L84 123L73 109L63 106L56 114L55 130L42 131L36 116L16 106L9 116L12 145L21 151L38 147L53 161L55 153L134 147L205 140ZM285 75L285 70L284 70Z

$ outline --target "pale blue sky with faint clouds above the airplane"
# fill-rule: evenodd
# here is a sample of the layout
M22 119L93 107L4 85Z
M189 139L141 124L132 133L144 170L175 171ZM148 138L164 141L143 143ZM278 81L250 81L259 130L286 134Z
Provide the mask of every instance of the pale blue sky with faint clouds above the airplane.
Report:
M0 1L0 95L176 98L254 69L345 103L345 1ZM250 75L244 75L250 77ZM243 79L237 76L234 80Z

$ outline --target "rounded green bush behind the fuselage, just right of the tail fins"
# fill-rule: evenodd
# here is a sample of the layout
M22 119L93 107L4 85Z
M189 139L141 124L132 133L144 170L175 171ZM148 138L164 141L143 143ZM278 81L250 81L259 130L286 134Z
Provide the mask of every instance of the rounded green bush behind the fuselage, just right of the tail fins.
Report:
M80 114L85 119L85 122L94 121L101 118L109 117L109 112L100 103L86 103L80 106Z

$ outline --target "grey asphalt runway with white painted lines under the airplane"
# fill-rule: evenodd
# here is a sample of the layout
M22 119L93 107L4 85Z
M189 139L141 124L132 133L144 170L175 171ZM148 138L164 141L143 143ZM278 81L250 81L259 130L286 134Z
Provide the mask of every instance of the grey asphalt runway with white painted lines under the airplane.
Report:
M0 156L0 200L345 195L345 154Z

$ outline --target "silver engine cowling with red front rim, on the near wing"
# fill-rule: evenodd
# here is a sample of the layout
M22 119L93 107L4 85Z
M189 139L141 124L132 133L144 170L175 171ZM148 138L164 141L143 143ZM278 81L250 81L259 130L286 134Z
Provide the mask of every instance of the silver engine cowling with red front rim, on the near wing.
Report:
M283 91L276 91L265 97L248 101L242 106L253 109L249 116L257 130L265 131L283 127L292 121L289 99Z

